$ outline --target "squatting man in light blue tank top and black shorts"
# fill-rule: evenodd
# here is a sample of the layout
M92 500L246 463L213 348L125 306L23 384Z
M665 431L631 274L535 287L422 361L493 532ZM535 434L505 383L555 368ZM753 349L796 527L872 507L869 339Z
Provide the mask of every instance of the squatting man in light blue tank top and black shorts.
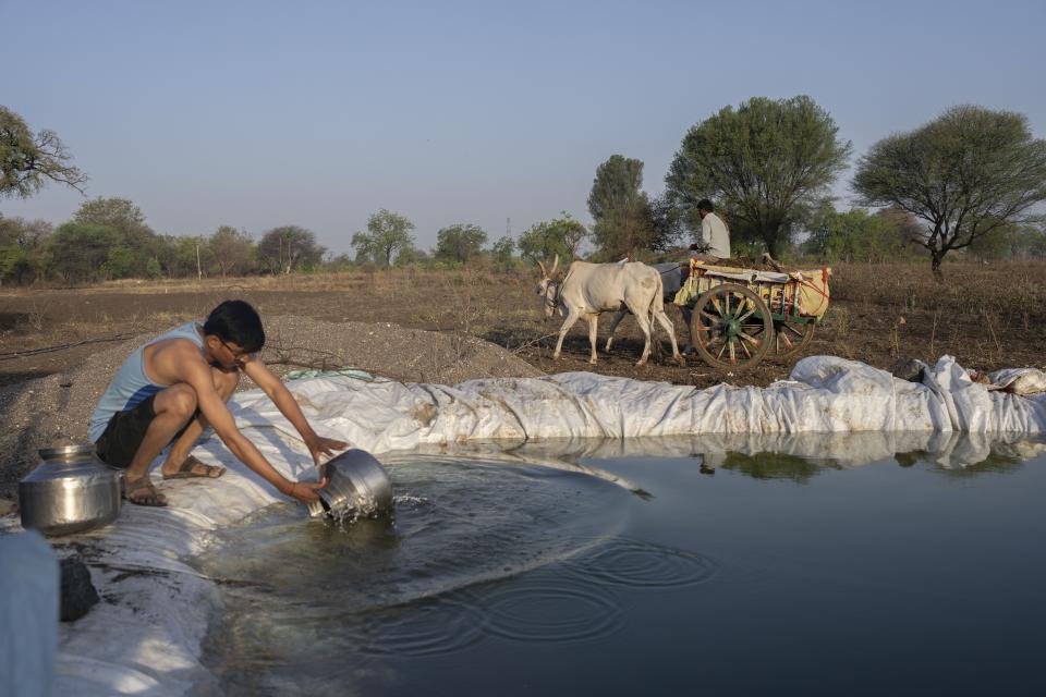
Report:
M244 301L226 301L200 326L188 322L132 353L112 378L90 417L88 433L98 456L126 468L127 499L141 505L167 505L156 490L148 466L171 445L160 472L165 479L217 478L224 468L190 455L199 436L211 426L227 448L281 493L304 503L319 500L318 482L290 481L236 428L226 402L240 382L240 372L254 380L301 433L313 461L343 450L346 443L316 435L294 396L262 363L265 344L262 319Z

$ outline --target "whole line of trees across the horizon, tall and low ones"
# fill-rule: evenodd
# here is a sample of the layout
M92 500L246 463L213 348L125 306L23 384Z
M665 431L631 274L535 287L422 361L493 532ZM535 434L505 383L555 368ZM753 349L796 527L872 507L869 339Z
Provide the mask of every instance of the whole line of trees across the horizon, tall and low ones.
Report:
M911 132L874 144L856 162L854 207L829 196L852 154L831 115L806 96L755 97L727 106L683 136L665 192L643 191L643 162L612 155L596 168L586 228L569 213L518 240L488 245L486 231L461 222L419 249L414 224L381 209L351 237L354 256L331 257L312 231L287 224L255 240L220 225L196 236L161 235L132 201L96 198L52 229L0 217L0 282L93 282L122 278L290 274L366 268L446 268L482 262L508 269L559 256L564 262L650 258L702 242L696 205L709 198L737 254L885 261L928 256L941 277L948 253L977 258L1046 258L1046 140L1025 117L960 106ZM0 198L28 197L48 182L82 191L86 175L50 131L33 133L0 107Z

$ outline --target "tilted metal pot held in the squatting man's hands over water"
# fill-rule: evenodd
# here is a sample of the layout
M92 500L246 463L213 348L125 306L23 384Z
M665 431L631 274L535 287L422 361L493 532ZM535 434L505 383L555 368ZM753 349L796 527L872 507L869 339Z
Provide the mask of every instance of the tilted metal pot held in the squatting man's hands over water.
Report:
M330 479L319 490L319 504L308 506L314 517L338 519L377 517L392 509L392 485L374 455L364 450L346 450L324 465Z

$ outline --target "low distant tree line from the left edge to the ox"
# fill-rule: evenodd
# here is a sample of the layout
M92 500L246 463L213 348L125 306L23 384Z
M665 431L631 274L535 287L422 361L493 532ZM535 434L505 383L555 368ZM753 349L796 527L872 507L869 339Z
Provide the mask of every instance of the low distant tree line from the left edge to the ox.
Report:
M573 235L563 232L562 225L573 228ZM549 239L562 234L573 246L543 247L537 242L540 233L527 233L521 237L520 248L528 252L531 259L546 249L572 255L585 233L569 217L535 228ZM515 255L515 241L503 236L488 246L487 233L478 225L443 228L437 233L436 247L428 252L415 246L413 229L405 217L382 209L370 216L366 232L352 236L353 258L329 255L313 231L294 224L272 228L257 239L232 225L219 225L204 235L158 234L134 203L96 198L57 228L42 220L0 216L0 284L287 276L357 267L450 268L473 262L511 269L522 264Z

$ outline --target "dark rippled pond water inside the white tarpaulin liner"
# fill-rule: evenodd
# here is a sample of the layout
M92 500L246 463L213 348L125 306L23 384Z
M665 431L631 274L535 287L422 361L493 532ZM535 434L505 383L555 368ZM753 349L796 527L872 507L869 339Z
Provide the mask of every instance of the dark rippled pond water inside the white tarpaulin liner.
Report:
M231 695L1046 694L1046 449L903 441L385 455L394 522L277 505L196 560L206 662Z

